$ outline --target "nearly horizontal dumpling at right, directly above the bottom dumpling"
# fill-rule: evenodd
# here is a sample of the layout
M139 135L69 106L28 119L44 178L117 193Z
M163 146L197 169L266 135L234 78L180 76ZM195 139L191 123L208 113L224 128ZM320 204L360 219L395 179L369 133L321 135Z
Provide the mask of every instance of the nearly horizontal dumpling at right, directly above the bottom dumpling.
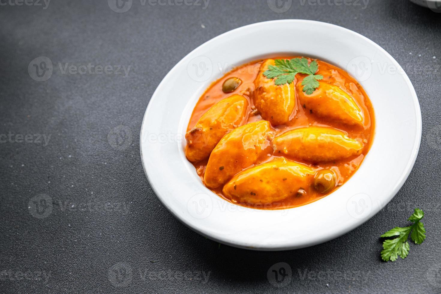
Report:
M340 160L359 154L364 145L332 127L303 127L289 130L273 140L276 154L295 159L318 161Z

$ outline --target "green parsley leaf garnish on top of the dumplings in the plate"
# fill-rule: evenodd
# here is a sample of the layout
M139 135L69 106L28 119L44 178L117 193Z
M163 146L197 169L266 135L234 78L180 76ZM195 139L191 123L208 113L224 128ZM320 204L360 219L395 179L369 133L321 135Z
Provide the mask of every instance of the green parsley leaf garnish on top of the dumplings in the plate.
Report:
M291 84L296 74L308 74L303 78L303 92L310 95L318 88L318 80L323 76L315 74L318 71L317 61L313 60L308 64L305 57L289 59L276 59L275 65L269 65L268 70L263 74L267 78L275 78L274 83L278 86Z

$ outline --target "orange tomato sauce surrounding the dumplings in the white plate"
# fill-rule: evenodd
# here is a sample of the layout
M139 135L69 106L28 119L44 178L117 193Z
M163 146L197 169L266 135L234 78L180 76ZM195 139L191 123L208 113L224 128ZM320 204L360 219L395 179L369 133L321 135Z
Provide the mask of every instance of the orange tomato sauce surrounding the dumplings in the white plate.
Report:
M274 56L272 59L292 59L300 56ZM309 58L308 58L309 59ZM309 59L311 60L311 59ZM253 62L243 64L239 67L234 68L232 71L225 74L222 78L213 82L208 89L202 94L199 98L198 103L194 107L193 113L191 115L190 121L188 123L187 131L191 130L198 120L204 115L209 108L211 108L217 102L230 97L233 94L240 94L248 98L250 103L250 112L248 115L247 123L263 120L262 117L255 111L254 102L253 102L253 92L255 89L254 79L259 74L259 68L262 62L265 60L255 60ZM297 83L300 83L302 77L306 76L305 74L297 74L294 80L295 83L295 99L296 99L296 109L293 111L292 117L290 117L290 122L283 126L272 126L276 131L276 136L292 129L296 129L299 127L311 127L311 126L323 126L323 127L333 127L338 130L342 130L348 134L349 138L359 138L364 143L364 148L361 153L356 154L355 156L351 156L345 158L343 160L336 160L330 162L321 162L314 163L308 162L305 160L298 160L290 157L289 155L283 155L285 158L289 160L296 161L301 164L308 165L314 168L328 168L335 172L336 174L336 187L335 189L329 191L327 194L321 194L319 192L308 193L307 195L292 196L287 197L283 201L279 201L277 203L271 204L251 204L251 203L241 203L235 201L234 199L230 199L226 197L222 193L222 187L216 189L210 189L215 194L224 198L227 201L235 203L237 205L247 206L251 208L259 208L259 209L281 209L281 208L292 208L301 205L305 205L311 203L313 201L317 201L322 197L332 193L336 189L338 189L341 185L343 185L348 179L358 170L360 165L363 162L366 154L368 153L370 146L372 145L372 141L374 138L374 109L372 104L364 91L363 87L352 78L346 71L333 66L329 63L326 63L321 60L316 60L318 63L318 72L316 74L323 75L323 79L321 81L328 82L335 86L339 86L345 92L349 93L351 97L356 101L359 107L363 110L365 114L365 123L364 127L360 127L357 125L345 125L343 123L339 123L334 119L329 119L326 117L319 117L314 115L314 112L311 109L304 108L303 105L300 104L299 95L297 93ZM224 93L222 91L222 85L225 80L228 78L237 77L242 80L242 83L234 90L232 93ZM253 164L251 167L268 162L273 160L276 157L282 156L280 153L273 153L268 156L264 161ZM201 160L196 163L192 163L196 168L196 171L201 178L202 182L204 182L204 174L207 165L208 159Z

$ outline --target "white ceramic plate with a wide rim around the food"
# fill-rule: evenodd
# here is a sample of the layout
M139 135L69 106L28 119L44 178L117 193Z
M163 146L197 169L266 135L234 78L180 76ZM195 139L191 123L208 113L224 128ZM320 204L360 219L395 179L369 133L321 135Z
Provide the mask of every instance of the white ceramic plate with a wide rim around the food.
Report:
M357 78L374 106L374 143L359 170L332 194L297 208L244 208L203 186L185 158L183 137L194 105L211 82L232 66L280 53L316 57ZM153 93L140 144L150 185L187 227L231 246L285 250L336 238L374 216L404 184L420 140L415 90L384 49L329 23L277 20L224 33L179 61Z

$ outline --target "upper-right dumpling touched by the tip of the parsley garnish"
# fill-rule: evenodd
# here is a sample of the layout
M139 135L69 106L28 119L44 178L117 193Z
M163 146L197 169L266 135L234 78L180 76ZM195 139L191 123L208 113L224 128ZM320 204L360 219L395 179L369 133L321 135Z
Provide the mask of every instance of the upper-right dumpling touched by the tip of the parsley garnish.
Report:
M347 125L362 126L365 123L363 110L353 97L339 86L319 82L318 89L307 95L301 82L297 83L300 104L312 113L328 117Z

